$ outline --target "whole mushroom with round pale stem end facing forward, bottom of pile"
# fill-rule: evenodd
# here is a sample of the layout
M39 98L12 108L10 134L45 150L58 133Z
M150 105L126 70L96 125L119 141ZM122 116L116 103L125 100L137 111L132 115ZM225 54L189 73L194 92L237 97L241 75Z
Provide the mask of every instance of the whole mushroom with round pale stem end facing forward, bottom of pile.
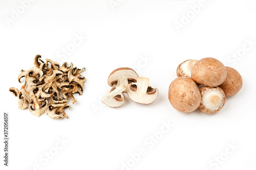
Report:
M202 100L200 110L207 114L216 113L226 103L226 96L220 87L203 86L200 88Z

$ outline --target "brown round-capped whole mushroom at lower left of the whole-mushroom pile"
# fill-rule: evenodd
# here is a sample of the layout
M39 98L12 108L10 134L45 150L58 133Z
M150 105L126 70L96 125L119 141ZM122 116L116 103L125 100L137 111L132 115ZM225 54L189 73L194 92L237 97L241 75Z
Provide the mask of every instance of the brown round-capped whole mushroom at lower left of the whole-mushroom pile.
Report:
M201 103L201 94L194 80L189 77L176 78L169 86L169 102L183 113L196 110Z

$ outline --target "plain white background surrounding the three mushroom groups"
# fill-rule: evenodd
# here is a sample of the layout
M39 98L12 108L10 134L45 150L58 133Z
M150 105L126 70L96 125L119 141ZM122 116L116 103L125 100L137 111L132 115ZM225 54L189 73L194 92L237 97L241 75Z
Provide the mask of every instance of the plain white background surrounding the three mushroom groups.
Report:
M38 0L23 12L19 1L1 1L1 119L8 112L10 126L9 167L3 165L1 142L1 169L33 169L37 164L38 169L255 169L256 3L205 0L193 16L190 6L199 1L114 2L118 5L112 7L109 0ZM13 10L19 10L18 16L6 22ZM178 31L175 23L187 13L191 19ZM60 57L62 48L79 35L87 38L70 55ZM245 52L250 39L254 44ZM237 52L245 54L233 58ZM8 91L23 85L24 80L17 81L19 71L33 67L37 54L86 67L84 92L75 95L78 102L66 111L69 119L36 117L28 109L19 110L17 98ZM141 57L150 60L142 62ZM178 112L167 98L176 68L184 60L204 57L236 68L243 88L227 98L216 114ZM149 78L159 90L157 100L141 105L126 97L120 108L102 105L108 76L118 67L137 68L140 77ZM163 121L174 126L150 148L145 141L159 134ZM3 133L3 122L1 129ZM68 143L49 162L41 161L62 138ZM232 151L228 143L239 148L227 156L226 150ZM140 148L145 155L132 164L130 154ZM218 166L210 164L220 156L225 160ZM131 167L122 168L127 161Z

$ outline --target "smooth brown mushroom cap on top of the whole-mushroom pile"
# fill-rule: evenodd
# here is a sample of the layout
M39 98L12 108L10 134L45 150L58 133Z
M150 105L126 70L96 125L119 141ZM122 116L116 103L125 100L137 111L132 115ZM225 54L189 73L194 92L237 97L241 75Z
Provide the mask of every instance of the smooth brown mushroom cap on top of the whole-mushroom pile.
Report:
M191 78L198 84L216 87L226 80L227 70L219 60L203 58L192 68Z

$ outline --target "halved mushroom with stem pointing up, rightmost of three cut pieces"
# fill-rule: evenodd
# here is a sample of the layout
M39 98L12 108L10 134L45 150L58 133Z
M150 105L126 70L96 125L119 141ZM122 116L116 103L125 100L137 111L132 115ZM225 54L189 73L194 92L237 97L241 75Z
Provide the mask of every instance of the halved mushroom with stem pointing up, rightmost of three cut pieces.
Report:
M150 80L139 77L137 83L131 83L127 87L127 94L136 103L150 104L157 99L158 89L148 86Z

